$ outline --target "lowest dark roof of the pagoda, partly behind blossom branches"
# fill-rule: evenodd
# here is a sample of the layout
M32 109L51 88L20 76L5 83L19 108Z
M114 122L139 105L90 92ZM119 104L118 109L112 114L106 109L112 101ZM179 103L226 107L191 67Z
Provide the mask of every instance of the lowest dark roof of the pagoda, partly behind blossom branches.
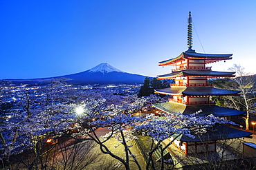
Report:
M253 133L228 127L226 125L215 124L214 127L208 128L208 131L205 134L194 134L193 132L191 134L194 135L195 138L189 138L188 136L181 135L176 139L183 142L202 142L202 141L211 141L211 140L242 138L242 137L250 136ZM172 135L172 137L174 138L176 136L178 135L177 134Z

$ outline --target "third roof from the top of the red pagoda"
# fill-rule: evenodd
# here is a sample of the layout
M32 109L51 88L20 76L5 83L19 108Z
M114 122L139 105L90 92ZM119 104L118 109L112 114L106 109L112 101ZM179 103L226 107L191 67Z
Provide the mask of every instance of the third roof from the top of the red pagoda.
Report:
M184 96L222 96L235 95L240 91L229 89L217 89L214 87L168 87L165 89L155 89L156 93L167 95L184 95Z

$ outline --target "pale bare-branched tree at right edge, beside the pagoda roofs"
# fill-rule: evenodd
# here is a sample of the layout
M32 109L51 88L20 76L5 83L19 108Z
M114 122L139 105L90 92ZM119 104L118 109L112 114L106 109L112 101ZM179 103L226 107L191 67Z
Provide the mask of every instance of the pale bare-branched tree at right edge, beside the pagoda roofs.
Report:
M255 75L246 73L244 67L234 64L228 70L236 72L235 78L221 78L212 81L214 86L223 89L232 89L239 92L239 96L221 96L217 104L231 109L246 111L244 124L246 130L250 129L251 115L256 113Z

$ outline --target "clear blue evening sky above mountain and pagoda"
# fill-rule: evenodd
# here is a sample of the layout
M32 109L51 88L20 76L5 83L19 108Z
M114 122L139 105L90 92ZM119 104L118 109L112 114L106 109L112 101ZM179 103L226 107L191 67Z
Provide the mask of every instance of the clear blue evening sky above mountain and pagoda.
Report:
M62 76L100 63L167 74L171 67L158 61L188 50L189 11L196 52L233 54L212 70L240 63L256 74L255 10L255 0L0 0L0 79Z

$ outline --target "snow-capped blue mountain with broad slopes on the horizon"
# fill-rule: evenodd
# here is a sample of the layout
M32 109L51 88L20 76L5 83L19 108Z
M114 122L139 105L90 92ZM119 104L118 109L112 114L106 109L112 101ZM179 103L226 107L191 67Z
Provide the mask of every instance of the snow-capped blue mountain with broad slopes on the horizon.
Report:
M139 74L122 72L108 63L101 63L90 70L76 74L56 76L49 78L12 79L15 84L46 84L51 78L68 78L67 83L73 84L140 84L145 77Z

